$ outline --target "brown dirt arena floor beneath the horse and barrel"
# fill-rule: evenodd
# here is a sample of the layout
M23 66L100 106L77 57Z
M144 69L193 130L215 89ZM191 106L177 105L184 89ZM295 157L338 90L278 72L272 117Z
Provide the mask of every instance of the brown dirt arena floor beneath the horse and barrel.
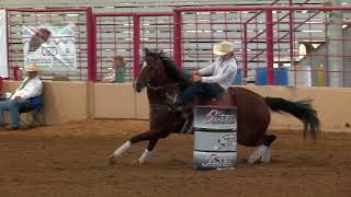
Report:
M0 196L254 196L350 197L351 134L322 132L315 143L302 131L274 131L271 164L247 164L239 147L229 171L192 170L193 138L173 135L158 143L149 164L133 147L114 166L106 155L147 121L92 120L22 131L0 131Z

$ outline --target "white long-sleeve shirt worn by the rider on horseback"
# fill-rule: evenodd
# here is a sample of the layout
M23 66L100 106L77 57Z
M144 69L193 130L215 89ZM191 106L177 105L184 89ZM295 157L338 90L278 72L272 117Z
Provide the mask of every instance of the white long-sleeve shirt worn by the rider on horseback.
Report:
M204 83L219 83L219 85L227 90L237 74L237 61L233 57L227 60L222 58L216 59L212 65L199 70L202 77L202 82ZM210 77L205 77L210 76Z

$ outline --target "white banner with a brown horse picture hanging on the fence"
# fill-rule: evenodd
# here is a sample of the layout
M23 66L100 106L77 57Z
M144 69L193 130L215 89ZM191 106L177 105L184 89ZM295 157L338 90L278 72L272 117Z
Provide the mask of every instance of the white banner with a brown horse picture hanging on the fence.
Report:
M24 66L43 71L77 71L73 25L23 26Z

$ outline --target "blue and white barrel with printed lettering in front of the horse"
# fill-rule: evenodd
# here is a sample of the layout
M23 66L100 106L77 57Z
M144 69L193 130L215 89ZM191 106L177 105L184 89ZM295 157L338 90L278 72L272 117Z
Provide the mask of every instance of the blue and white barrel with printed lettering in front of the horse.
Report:
M194 107L195 170L230 169L237 159L237 109L233 106Z

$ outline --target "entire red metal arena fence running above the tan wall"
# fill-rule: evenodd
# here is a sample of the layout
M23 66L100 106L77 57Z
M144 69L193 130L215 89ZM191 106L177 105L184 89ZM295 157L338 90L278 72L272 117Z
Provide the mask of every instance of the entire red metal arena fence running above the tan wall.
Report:
M8 9L9 65L22 67L23 25L76 24L77 72L71 80L100 81L111 58L138 72L143 48L163 49L183 70L216 57L212 47L235 44L236 84L351 86L351 7L181 7L173 12L95 13L79 9ZM13 74L13 73L12 73Z

